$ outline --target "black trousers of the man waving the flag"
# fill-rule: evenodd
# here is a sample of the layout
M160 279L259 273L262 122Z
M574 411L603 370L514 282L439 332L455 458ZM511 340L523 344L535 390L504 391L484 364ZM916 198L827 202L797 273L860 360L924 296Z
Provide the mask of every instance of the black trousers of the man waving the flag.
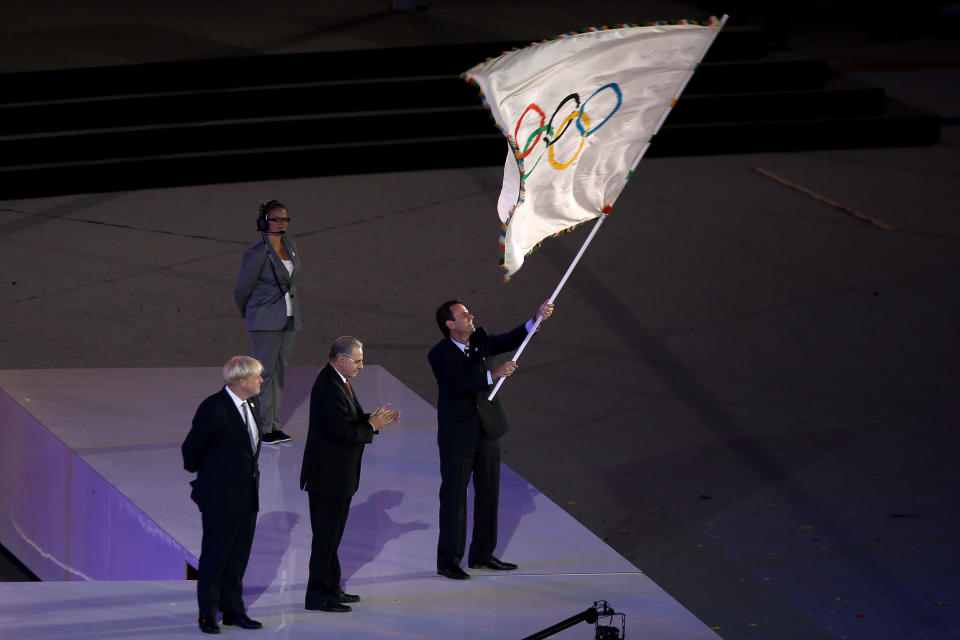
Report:
M497 547L500 445L480 438L476 449L440 450L440 539L437 567L463 560L467 537L467 484L473 474L473 535L468 562L484 562Z

